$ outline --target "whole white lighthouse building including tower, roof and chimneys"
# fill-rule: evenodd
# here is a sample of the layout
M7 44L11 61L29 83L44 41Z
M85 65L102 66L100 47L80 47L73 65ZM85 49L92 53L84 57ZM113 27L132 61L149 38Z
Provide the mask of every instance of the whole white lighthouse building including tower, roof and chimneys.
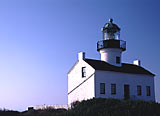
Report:
M102 28L103 40L97 42L101 60L87 59L85 53L68 72L68 104L91 98L116 98L155 101L154 74L140 61L121 62L126 42L120 40L120 28L112 23Z

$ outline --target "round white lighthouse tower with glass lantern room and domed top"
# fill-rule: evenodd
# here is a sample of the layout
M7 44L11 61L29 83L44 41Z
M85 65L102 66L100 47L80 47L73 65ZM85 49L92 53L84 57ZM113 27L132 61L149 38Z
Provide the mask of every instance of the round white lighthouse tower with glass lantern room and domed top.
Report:
M121 54L126 50L126 42L120 40L120 28L109 19L102 28L103 40L98 41L97 51L101 60L115 66L121 66Z

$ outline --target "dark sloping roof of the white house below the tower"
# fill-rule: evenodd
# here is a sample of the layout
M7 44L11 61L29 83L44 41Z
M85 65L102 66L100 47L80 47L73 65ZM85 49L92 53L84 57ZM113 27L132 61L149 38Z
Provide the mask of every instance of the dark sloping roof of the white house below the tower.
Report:
M155 76L155 74L149 72L143 67L134 64L122 63L121 67L117 67L101 60L85 59L85 61L89 65L91 65L95 70L115 71L115 72L132 73L132 74L146 74Z

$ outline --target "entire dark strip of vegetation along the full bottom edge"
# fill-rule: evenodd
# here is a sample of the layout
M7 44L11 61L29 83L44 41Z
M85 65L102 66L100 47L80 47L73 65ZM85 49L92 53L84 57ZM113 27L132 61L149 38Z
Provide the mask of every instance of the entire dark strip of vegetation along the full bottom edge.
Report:
M75 102L73 108L68 111L65 109L33 110L21 113L0 111L0 116L1 113L3 113L2 116L160 116L160 104L96 98Z

